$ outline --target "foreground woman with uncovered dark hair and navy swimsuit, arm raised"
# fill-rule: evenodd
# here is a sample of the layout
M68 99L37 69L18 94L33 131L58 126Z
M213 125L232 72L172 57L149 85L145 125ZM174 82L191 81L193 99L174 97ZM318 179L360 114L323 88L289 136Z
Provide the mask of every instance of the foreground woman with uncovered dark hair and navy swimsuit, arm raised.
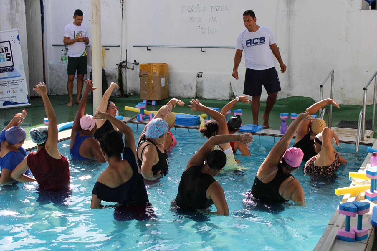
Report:
M120 132L112 130L101 138L101 149L109 166L100 174L92 191L90 208L114 207L122 205L132 207L131 211L145 210L149 204L143 176L136 164L136 146L130 127L119 119L104 112L94 118L108 119L124 133L124 145ZM123 159L121 154L123 152ZM116 205L103 206L101 201L116 202Z

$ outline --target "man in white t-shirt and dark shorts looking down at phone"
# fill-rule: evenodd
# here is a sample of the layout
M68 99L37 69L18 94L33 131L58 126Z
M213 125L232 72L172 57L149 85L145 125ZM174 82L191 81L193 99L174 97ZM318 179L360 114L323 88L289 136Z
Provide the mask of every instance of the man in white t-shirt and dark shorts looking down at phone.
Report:
M89 44L87 36L87 27L83 22L83 12L79 9L75 10L73 23L68 24L64 28L63 43L68 46L68 81L67 90L69 102L67 106L73 105L73 81L77 71L77 96L76 103L80 103L80 95L84 85L84 75L87 72L87 55L86 46Z

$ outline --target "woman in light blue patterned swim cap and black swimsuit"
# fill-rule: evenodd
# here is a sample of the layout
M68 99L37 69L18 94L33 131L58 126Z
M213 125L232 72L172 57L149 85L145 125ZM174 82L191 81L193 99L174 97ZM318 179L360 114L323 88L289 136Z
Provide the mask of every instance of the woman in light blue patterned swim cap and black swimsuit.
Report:
M164 118L169 117L172 105L162 106L156 116L144 127L139 137L136 159L144 179L156 179L166 174L169 160L164 142L169 125Z

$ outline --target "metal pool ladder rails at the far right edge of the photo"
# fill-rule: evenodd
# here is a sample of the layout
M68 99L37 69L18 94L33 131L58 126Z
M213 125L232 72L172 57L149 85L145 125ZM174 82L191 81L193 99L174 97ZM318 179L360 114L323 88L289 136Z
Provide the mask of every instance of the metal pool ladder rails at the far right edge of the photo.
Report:
M365 135L365 115L366 115L366 89L369 84L372 83L374 79L374 90L373 90L373 113L372 113L372 130L374 131L374 116L376 111L376 93L377 93L377 71L375 71L372 77L369 79L368 83L363 87L364 90L364 100L363 100L363 109L359 113L359 122L357 123L357 132L356 132L356 145L355 152L359 152L360 144L360 130L361 130L361 140L364 140Z

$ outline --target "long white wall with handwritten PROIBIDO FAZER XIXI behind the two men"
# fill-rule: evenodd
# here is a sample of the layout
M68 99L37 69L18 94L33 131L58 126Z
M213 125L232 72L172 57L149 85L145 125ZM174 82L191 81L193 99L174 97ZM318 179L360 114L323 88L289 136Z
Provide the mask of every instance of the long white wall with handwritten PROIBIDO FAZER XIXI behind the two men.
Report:
M343 104L361 104L362 87L377 70L373 45L377 34L370 25L376 23L377 15L375 11L360 10L362 2L138 0L125 1L122 7L120 0L102 0L102 43L121 45L105 52L105 69L112 76L107 79L116 80L115 64L125 59L127 49L129 61L169 64L170 96L228 99L231 89L235 95L241 95L244 60L239 66L240 79L234 80L231 77L234 49L201 52L192 48L152 48L147 51L132 45L234 46L237 35L244 29L242 12L253 9L257 24L268 26L273 32L288 67L286 73L279 73L282 86L279 98L297 95L318 100L319 85L334 68L334 98ZM214 3L222 6L219 7L222 11L211 9ZM64 26L72 21L77 8L83 10L84 23L90 29L90 1L47 1L45 5L48 81L56 81L61 86L53 88L54 93L66 93L66 66L57 63L61 48L51 44L63 43ZM190 12L198 5L200 11ZM212 34L201 34L199 25L207 30L209 27ZM275 65L279 70L276 60ZM59 79L55 78L57 71ZM196 77L198 72L203 73L202 78ZM127 70L127 92L139 92L138 74L138 70ZM327 82L324 97L329 96L329 88ZM368 90L370 102L372 89ZM262 93L262 99L266 97Z

